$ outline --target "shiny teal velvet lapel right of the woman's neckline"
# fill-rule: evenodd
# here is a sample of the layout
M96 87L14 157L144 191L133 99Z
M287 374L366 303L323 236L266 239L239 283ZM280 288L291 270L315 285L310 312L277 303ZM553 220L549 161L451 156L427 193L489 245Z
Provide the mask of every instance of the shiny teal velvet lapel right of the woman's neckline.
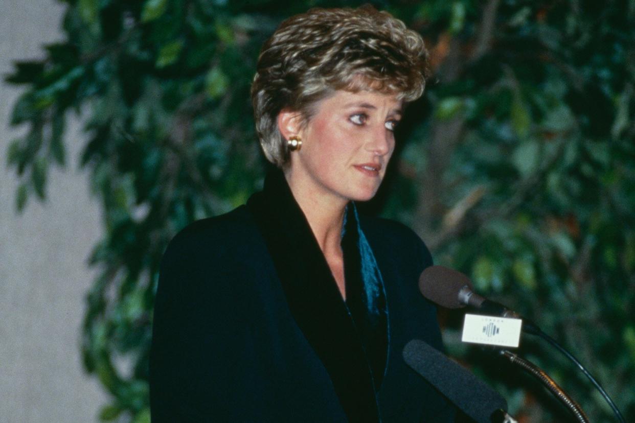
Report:
M384 379L388 349L388 318L382 274L373 251L359 226L355 204L344 213L342 252L346 305L358 330L378 391Z

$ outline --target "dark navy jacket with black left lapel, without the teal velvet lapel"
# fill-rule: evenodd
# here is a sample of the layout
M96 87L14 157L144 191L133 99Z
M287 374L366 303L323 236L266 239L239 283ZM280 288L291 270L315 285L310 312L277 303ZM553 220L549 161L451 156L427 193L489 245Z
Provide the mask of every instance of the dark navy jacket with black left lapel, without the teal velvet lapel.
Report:
M436 309L417 287L431 256L406 226L363 217L360 225L387 301L378 392L304 215L286 184L265 181L264 193L188 226L164 254L152 422L453 421L453 406L401 357L411 339L442 349Z

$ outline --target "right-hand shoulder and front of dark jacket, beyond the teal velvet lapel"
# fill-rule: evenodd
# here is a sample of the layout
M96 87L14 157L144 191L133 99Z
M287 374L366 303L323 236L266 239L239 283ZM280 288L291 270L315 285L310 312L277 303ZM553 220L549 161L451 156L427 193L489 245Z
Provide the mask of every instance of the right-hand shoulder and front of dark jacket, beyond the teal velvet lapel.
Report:
M436 308L425 300L417 280L432 265L429 253L416 238L393 223L361 216L360 225L377 259L384 280L389 316L389 348L384 381L378 394L382 417L391 421L453 421L452 406L431 384L414 372L402 357L411 339L424 339L443 349Z

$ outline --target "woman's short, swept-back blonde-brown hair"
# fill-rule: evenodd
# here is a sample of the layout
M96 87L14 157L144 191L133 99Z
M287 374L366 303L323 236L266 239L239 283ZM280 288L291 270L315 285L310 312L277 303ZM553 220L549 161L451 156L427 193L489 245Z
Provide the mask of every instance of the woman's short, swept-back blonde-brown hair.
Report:
M267 159L284 167L290 157L277 127L283 109L300 112L336 90L394 93L417 100L429 75L428 52L417 32L370 5L314 8L284 20L258 57L251 86L256 130Z

